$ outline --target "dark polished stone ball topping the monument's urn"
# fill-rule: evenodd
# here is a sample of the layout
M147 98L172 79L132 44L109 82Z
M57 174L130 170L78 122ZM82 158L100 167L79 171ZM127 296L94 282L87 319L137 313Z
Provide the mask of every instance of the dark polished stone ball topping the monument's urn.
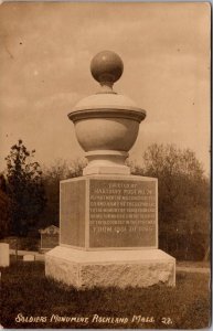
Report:
M103 51L94 56L90 62L93 77L102 83L114 84L124 71L124 63L118 54L111 51Z

